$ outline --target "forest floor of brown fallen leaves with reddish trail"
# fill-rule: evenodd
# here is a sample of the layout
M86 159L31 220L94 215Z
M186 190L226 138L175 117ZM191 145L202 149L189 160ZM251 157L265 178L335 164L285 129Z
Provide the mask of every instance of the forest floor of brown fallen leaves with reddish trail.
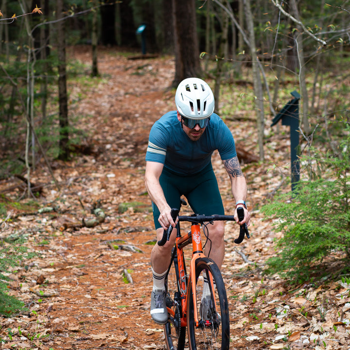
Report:
M72 49L68 57L86 65L88 74L88 50ZM102 78L88 84L69 81L70 116L87 136L82 136L71 161L51 162L59 188L41 159L32 174L32 182L42 185L36 199L40 210L33 200L21 201L30 209L14 205L24 194L20 179L0 182L12 218L1 238L26 237L38 253L10 275L9 293L23 300L29 311L0 317L1 349L164 348L162 326L149 314L150 242L155 232L143 176L149 130L174 109L174 90L168 88L174 58L128 59L105 49L99 53L99 70ZM242 89L251 93L249 85ZM237 146L257 155L253 110L247 106L246 111L233 111L227 125ZM349 350L349 285L306 283L291 290L278 276L262 274L280 234L272 220L263 220L259 208L286 186L285 176L276 169L286 167L287 175L289 169L289 136L280 135L268 138L264 162L242 162L252 237L235 245L239 227L226 224L222 273L230 349ZM213 166L226 211L233 213L228 176L216 153ZM105 212L105 220L95 227L83 226L82 219L93 219L91 210L96 207Z

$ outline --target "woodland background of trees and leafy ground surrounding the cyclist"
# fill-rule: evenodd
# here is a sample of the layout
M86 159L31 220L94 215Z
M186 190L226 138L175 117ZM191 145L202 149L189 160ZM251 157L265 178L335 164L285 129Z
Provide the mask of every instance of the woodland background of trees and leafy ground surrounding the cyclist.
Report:
M234 246L227 224L232 349L349 349L348 276L291 288L263 275L282 232L260 212L290 191L290 130L271 122L292 91L300 155L336 157L348 136L348 1L3 0L0 11L1 240L38 253L8 274L28 312L1 318L3 349L163 348L149 317L144 153L191 75L212 87L248 182L252 239Z

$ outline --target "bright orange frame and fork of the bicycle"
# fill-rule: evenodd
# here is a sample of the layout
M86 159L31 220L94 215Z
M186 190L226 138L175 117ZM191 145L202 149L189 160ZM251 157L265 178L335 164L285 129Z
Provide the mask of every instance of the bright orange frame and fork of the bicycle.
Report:
M194 310L197 310L197 298L195 295L196 291L196 281L192 278L192 276L195 276L195 262L199 258L205 257L205 254L203 253L203 247L202 247L202 236L201 236L201 228L199 224L192 224L191 225L191 232L186 234L184 237L181 237L180 233L180 226L179 224L176 225L177 228L177 234L175 239L175 247L176 247L176 258L177 258L177 264L178 264L178 270L179 270L179 283L180 283L180 291L181 291L181 327L187 327L187 305L188 305L188 298L192 297L193 299L193 308ZM190 264L190 276L186 276L185 266L183 266L184 263L184 254L183 254L183 248L186 245L189 245L192 243L192 259ZM175 254L175 252L174 252ZM173 257L175 258L175 256ZM187 278L188 277L188 278ZM214 290L214 283L212 276L209 274L207 276L210 280L211 288ZM191 296L188 295L188 289L187 285L192 283L192 291L194 291L194 294ZM168 313L172 315L173 317L174 312L168 308ZM194 313L194 322L195 326L199 326L199 319L198 319L198 313Z

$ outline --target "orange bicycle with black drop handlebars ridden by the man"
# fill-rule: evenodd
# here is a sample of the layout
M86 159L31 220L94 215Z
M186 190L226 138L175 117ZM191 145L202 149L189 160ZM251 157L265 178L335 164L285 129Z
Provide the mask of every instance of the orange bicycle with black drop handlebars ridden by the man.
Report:
M181 199L182 204L186 202ZM175 221L179 210L172 209ZM239 221L244 218L243 208L237 208ZM165 342L168 350L183 350L186 345L186 327L190 350L228 350L229 313L225 284L216 263L206 257L203 247L209 240L207 225L215 220L234 221L232 215L178 216L175 246L165 279L168 322L164 325ZM181 236L180 222L191 223L191 231ZM202 246L202 225L206 242ZM173 227L164 230L158 245L164 245L170 238ZM235 239L239 244L245 235L249 238L246 225ZM183 248L192 243L190 271L187 273ZM205 283L206 286L205 286ZM209 287L209 288L208 288ZM203 289L206 288L205 300Z

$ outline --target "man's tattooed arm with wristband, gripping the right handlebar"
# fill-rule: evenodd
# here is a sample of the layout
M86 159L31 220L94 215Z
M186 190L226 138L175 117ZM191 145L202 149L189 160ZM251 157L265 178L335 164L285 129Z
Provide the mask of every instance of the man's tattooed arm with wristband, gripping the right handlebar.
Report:
M245 181L245 176L242 173L241 165L239 163L238 157L235 156L230 159L223 160L225 169L231 181L231 191L233 198L236 203L240 201L244 201L246 199L247 186ZM242 207L245 210L245 218L241 221L241 224L246 223L247 226L250 225L250 213L246 210L244 204L237 204L234 212L234 216L236 217L236 221L238 222L237 208Z

